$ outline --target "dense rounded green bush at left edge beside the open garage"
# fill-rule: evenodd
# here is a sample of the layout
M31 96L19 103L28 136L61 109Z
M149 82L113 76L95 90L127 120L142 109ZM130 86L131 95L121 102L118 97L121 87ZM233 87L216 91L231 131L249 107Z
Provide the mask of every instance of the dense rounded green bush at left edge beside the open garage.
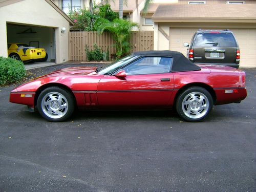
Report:
M0 86L22 80L26 70L22 61L0 57Z

